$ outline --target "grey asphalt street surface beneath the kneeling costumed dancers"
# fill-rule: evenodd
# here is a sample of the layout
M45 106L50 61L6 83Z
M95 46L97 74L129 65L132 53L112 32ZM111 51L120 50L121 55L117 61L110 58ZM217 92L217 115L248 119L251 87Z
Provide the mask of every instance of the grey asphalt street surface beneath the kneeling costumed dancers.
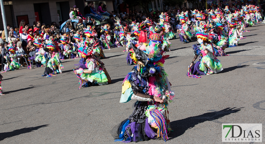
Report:
M245 30L251 30L243 32L246 39L227 48L229 56L218 57L224 70L202 78L186 76L196 42L183 44L178 36L170 40L164 68L176 93L168 106L174 132L169 141L156 143L222 143L222 123L265 123L265 64L253 65L265 61L265 25ZM2 73L0 143L121 144L110 131L129 117L135 102L119 103L122 81L132 69L124 49L104 50L108 59L102 62L112 78L104 86L78 90L73 67L80 59L62 61L63 74L49 78L41 76L44 67Z

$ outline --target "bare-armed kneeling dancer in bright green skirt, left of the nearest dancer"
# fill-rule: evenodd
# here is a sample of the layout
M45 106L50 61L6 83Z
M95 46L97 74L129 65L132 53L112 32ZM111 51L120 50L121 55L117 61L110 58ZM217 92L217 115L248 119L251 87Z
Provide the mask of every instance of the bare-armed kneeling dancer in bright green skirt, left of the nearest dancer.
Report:
M92 85L107 85L111 83L111 78L104 67L104 63L93 55L93 48L98 43L89 44L87 41L81 41L78 52L81 53L79 67L74 68L74 73L80 79L79 89Z

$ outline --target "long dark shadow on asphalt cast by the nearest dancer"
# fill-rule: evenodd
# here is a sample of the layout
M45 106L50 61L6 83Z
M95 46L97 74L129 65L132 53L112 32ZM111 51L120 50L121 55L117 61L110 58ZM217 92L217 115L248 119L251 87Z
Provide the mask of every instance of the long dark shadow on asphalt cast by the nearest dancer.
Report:
M188 117L185 119L180 119L180 120L175 120L173 122L170 122L171 128L174 130L174 132L170 133L169 140L172 140L176 137L181 136L182 134L185 133L185 131L195 127L197 124L206 122L206 121L212 121L216 120L219 118L222 118L226 115L229 115L231 113L237 113L238 111L241 110L241 108L235 109L234 108L226 108L217 112L209 112L209 113L204 113L202 115L197 115L194 117ZM244 108L244 107L243 107Z

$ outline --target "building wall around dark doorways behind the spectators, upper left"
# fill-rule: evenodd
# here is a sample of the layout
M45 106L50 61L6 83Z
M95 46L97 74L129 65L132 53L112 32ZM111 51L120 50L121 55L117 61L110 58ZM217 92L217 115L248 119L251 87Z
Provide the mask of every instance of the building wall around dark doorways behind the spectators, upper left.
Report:
M75 5L74 0L13 0L13 10L14 10L14 16L15 16L15 24L17 24L17 18L16 16L20 15L28 15L29 18L29 24L33 25L33 22L35 21L35 12L34 12L34 6L33 3L49 3L50 7L50 13L51 13L51 21L55 21L56 23L59 22L58 20L58 14L57 14L57 8L56 8L56 2L69 2L69 6L73 7Z

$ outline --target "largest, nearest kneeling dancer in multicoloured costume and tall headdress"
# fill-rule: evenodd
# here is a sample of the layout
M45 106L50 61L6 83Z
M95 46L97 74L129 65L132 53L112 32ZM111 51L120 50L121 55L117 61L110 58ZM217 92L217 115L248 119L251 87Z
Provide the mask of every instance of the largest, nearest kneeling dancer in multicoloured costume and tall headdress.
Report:
M113 133L115 141L128 143L157 137L167 141L167 135L172 131L167 105L175 95L163 68L165 58L169 55L163 55L162 41L157 39L159 37L151 37L156 39L151 38L145 52L135 45L131 46L137 66L123 80L120 103L136 100L135 109L129 118L120 123L117 132Z

